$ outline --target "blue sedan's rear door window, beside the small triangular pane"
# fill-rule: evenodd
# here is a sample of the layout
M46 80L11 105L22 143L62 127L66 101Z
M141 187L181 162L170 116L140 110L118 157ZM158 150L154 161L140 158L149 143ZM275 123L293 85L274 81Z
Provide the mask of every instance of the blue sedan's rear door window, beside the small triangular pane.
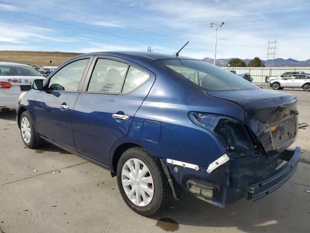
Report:
M129 65L109 59L98 59L93 69L88 92L119 94Z

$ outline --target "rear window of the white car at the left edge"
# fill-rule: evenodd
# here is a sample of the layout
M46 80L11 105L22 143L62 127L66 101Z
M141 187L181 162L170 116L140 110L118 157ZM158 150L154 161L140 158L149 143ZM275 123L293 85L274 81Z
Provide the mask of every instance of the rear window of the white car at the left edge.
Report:
M31 67L0 65L0 76L41 76Z

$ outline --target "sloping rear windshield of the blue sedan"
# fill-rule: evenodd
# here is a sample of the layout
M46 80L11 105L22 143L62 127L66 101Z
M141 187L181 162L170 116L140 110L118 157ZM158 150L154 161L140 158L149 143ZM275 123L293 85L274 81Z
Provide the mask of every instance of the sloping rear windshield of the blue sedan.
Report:
M166 59L155 62L160 66L169 67L172 73L181 74L187 80L210 91L259 88L232 72L200 60Z

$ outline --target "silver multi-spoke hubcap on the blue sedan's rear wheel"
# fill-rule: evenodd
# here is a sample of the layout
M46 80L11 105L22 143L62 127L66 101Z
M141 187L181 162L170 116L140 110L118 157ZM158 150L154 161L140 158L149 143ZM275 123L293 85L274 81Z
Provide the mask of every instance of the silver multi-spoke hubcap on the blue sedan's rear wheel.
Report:
M154 196L154 181L149 168L139 159L129 159L122 169L122 184L128 199L146 206Z

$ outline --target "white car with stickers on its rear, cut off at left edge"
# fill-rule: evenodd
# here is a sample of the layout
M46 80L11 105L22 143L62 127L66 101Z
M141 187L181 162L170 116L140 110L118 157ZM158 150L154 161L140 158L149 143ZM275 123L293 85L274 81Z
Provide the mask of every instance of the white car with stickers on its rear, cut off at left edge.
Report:
M0 62L0 112L15 109L21 93L29 91L36 79L45 79L30 66Z

